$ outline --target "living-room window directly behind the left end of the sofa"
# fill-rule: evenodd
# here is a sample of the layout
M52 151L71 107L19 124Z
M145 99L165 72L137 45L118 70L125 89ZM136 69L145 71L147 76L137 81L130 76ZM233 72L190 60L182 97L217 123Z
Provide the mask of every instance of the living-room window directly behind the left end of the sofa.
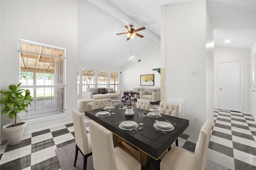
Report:
M83 68L82 70L82 81L83 87L82 91L86 91L88 87L95 87L95 70Z

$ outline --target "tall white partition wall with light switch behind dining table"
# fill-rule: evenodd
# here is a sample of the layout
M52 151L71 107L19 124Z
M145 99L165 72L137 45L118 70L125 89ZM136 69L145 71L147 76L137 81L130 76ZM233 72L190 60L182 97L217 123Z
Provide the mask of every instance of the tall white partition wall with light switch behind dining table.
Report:
M213 114L212 47L206 44L213 41L213 30L206 10L205 1L168 5L165 8L165 74L166 99L186 100L186 115L189 120L186 132L198 135L206 121L207 111ZM206 21L207 20L207 21ZM161 32L162 33L162 32ZM198 76L191 76L191 70L198 70ZM168 100L166 100L168 101ZM209 108L207 108L209 107ZM181 117L181 116L180 116ZM198 123L193 123L193 117Z

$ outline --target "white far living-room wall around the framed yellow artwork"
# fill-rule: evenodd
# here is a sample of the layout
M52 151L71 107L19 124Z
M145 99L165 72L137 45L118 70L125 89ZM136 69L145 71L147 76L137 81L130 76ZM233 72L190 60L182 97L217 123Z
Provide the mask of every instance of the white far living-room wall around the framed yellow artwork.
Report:
M122 66L120 90L123 88L132 90L134 87L142 87L142 90L154 87L160 90L160 74L153 71L154 68L161 68L160 43L158 42L152 42L132 59L132 63L128 62ZM142 74L154 74L154 86L140 86Z

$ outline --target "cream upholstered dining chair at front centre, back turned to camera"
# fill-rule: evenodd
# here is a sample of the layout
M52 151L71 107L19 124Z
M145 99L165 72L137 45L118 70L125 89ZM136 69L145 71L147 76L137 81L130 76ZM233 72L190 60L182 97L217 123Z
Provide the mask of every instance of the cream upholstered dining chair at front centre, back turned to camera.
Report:
M93 166L95 170L141 170L141 164L120 147L114 149L113 134L102 125L90 121Z

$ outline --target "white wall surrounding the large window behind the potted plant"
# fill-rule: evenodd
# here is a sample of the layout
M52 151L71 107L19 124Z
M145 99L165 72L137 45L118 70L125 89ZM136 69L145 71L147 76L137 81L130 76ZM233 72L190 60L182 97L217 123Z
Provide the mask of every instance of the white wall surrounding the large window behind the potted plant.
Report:
M77 107L77 1L1 0L1 3L0 87L2 90L8 89L10 84L17 84L18 38L66 48L66 113L68 116L27 125L24 133L72 121L71 110ZM5 118L2 117L1 131L5 124ZM4 137L2 132L1 134L1 137Z

